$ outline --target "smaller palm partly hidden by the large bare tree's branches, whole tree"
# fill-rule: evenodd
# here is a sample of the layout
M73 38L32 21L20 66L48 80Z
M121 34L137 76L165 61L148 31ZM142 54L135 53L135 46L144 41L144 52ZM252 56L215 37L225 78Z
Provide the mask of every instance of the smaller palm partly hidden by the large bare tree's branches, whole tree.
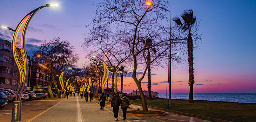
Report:
M144 47L149 48L148 54L147 54L147 68L148 68L148 99L152 99L151 96L151 55L150 55L150 50L153 51L153 53L156 53L156 50L154 48L150 48L152 46L152 39L148 38L146 39L146 42L143 42L145 45Z

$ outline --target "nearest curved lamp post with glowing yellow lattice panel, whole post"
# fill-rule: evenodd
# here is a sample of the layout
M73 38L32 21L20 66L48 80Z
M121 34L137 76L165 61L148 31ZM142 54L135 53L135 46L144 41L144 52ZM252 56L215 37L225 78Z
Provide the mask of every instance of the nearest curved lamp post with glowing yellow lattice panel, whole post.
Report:
M38 7L28 13L18 24L16 30L12 28L2 26L3 28L14 31L13 39L12 39L12 52L14 61L17 64L19 69L19 85L17 87L17 93L15 96L15 101L13 102L12 108L12 122L21 122L21 101L20 96L24 89L26 79L27 79L27 71L28 71L28 60L27 54L25 50L25 35L28 28L28 24L33 18L33 16L44 7L58 6L58 4L46 4L45 6Z

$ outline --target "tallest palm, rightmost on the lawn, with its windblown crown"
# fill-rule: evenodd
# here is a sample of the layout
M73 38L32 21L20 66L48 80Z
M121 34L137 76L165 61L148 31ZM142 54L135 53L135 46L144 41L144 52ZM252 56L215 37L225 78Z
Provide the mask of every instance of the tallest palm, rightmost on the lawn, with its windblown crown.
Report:
M193 25L196 22L196 17L193 17L193 10L184 10L183 14L181 14L181 17L183 19L183 23L181 22L179 17L174 17L173 21L176 22L178 26L180 26L179 29L182 29L183 32L188 32L188 67L189 67L189 103L194 102L193 100L193 85L195 83L194 81L194 66L193 66L193 40L191 37L191 30L193 28Z

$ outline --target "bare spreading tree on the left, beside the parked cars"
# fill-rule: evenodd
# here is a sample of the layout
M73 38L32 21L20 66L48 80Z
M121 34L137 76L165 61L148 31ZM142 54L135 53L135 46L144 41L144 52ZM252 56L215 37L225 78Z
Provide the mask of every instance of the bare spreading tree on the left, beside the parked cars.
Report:
M40 58L35 58L37 61L46 64L46 67L50 69L50 80L48 82L47 90L50 98L53 98L52 83L57 88L57 84L54 80L56 71L62 70L66 65L75 64L78 61L78 55L73 52L74 47L70 45L68 41L62 41L60 38L50 40L37 47L38 51L34 53L34 56L40 54ZM58 83L58 82L57 82Z

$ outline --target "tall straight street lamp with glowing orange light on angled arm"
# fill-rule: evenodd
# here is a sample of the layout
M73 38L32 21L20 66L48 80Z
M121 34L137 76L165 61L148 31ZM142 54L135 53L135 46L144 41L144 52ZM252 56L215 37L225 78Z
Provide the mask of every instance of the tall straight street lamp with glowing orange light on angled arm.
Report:
M169 70L168 70L168 81L169 81L169 108L171 108L171 11L169 11L169 10L167 10L167 9L164 9L164 8L162 8L162 7L159 7L159 6L156 6L156 5L154 5L151 1L147 1L146 2L146 5L147 6L149 6L149 7L151 7L151 6L155 6L155 7L158 7L158 8L161 8L161 9L163 9L163 10L166 10L166 11L168 11L170 14L169 14L169 21L170 21L170 28L169 28L169 31L170 31L170 37L169 37L169 41L170 41L170 47L169 47Z

